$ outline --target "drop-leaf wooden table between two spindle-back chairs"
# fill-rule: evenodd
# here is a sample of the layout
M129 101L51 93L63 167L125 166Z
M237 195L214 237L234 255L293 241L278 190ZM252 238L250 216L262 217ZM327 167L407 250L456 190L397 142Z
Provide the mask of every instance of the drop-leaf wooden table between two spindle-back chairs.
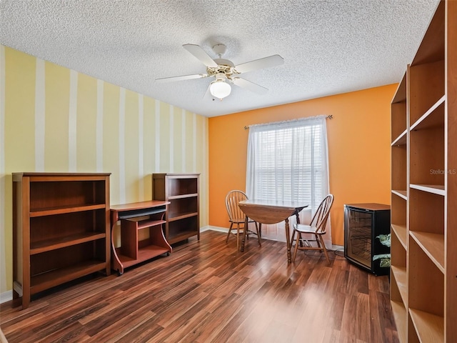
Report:
M263 200L243 200L239 202L238 207L246 214L247 227L248 218L251 218L259 224L276 224L286 222L286 244L287 244L287 262L292 262L291 256L291 233L289 232L288 217L296 216L297 223L300 223L298 213L308 207L307 204L298 202L271 202ZM243 240L241 241L241 252L244 251L244 241L246 231L243 230Z

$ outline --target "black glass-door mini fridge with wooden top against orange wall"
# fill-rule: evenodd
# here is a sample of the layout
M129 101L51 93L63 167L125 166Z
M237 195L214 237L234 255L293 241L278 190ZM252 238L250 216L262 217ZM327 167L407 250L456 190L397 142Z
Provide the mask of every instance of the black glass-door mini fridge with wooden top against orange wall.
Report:
M344 257L375 275L388 275L390 222L388 205L344 205Z

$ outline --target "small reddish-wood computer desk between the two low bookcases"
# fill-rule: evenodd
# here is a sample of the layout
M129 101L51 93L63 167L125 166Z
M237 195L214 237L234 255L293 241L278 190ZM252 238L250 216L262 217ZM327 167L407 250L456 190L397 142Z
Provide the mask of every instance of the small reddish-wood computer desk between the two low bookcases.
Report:
M163 226L169 202L149 201L111 207L111 245L113 269L124 274L124 269L161 254L170 254L171 247L164 237ZM121 221L121 246L115 247L114 226ZM147 230L146 238L140 238Z

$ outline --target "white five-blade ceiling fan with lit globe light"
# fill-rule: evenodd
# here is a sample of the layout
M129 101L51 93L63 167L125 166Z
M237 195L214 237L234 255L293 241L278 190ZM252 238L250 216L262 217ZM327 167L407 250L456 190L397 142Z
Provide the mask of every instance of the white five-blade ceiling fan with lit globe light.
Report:
M233 62L228 59L222 59L222 55L226 52L224 44L216 44L213 46L213 51L219 56L218 59L212 59L201 46L196 44L184 44L184 49L193 54L206 66L206 74L193 74L183 76L172 76L156 79L156 82L168 81L181 81L190 79L201 79L204 77L214 77L214 81L209 84L208 90L212 96L218 99L224 99L231 93L230 84L234 84L243 89L248 89L256 94L265 94L268 89L258 84L254 84L246 79L241 79L240 74L247 73L248 71L269 68L271 66L280 66L284 63L284 59L279 55L272 55L263 57L263 59L256 59L248 61L243 64L235 66Z

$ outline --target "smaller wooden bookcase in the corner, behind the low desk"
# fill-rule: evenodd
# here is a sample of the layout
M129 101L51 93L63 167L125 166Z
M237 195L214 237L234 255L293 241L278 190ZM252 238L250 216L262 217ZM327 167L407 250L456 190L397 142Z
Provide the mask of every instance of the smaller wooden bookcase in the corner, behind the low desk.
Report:
M199 174L152 174L154 199L170 202L165 238L170 244L200 239Z

